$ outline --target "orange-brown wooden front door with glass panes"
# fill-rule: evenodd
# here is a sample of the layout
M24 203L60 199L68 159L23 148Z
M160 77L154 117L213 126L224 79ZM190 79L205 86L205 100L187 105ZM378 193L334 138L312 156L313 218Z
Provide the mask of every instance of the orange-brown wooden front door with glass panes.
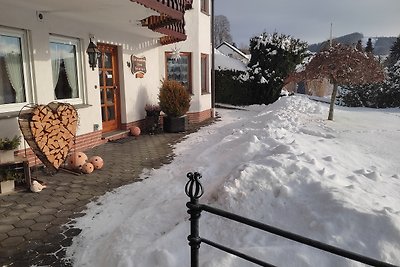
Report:
M99 84L103 132L119 129L121 125L118 54L114 45L98 44Z

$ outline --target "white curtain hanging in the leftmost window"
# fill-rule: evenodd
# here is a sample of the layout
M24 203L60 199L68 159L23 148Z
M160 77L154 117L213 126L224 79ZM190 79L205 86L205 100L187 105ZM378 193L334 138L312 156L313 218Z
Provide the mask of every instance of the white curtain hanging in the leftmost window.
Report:
M6 63L8 78L10 79L10 83L15 91L15 102L25 102L21 55L16 53L7 53L5 54L4 61Z

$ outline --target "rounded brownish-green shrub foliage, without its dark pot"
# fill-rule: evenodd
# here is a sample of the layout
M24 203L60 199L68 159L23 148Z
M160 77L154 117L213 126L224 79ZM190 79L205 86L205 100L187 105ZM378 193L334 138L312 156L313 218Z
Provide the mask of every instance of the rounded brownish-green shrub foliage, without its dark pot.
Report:
M180 117L188 112L190 94L178 81L163 80L158 95L161 110L170 117Z

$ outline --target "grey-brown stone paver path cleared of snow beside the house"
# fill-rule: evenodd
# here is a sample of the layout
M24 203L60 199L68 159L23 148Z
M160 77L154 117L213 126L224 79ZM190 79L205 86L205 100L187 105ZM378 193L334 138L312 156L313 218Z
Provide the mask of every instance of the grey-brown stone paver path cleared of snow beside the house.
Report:
M33 177L46 182L46 189L0 195L0 267L71 266L65 260L65 248L80 233L80 229L73 228L73 220L84 214L86 204L114 188L138 181L146 168L171 162L172 145L187 133L108 142L85 152L89 157L103 158L101 170L81 175L62 170L50 175L37 170Z

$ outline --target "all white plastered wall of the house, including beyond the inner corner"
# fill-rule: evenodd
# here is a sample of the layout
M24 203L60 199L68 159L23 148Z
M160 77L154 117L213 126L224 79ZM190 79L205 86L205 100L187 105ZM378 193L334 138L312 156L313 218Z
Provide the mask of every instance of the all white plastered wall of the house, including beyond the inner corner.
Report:
M187 41L176 44L181 51L192 52L193 96L189 112L199 112L211 108L211 94L201 95L200 54L208 54L211 61L210 16L198 12L200 1L194 1L194 9L185 15ZM171 51L175 44L160 46L158 39L106 29L94 24L66 20L57 13L45 13L39 21L36 12L2 4L0 26L27 30L31 54L32 98L29 102L47 104L54 101L52 69L49 51L50 34L79 38L82 49L83 87L87 107L78 109L80 123L78 135L93 131L94 124L102 125L98 71L88 66L85 53L89 34L94 34L97 42L118 46L119 74L121 88L122 123L129 123L145 117L144 106L158 102L160 80L165 74L165 51ZM148 30L143 28L144 31ZM144 78L135 78L127 62L131 55L146 57L147 73ZM211 64L211 63L210 63ZM97 87L97 88L96 88ZM211 88L211 87L210 87ZM0 114L1 115L1 114ZM16 118L1 119L0 137L13 136L18 132ZM5 130L7 129L7 130Z

